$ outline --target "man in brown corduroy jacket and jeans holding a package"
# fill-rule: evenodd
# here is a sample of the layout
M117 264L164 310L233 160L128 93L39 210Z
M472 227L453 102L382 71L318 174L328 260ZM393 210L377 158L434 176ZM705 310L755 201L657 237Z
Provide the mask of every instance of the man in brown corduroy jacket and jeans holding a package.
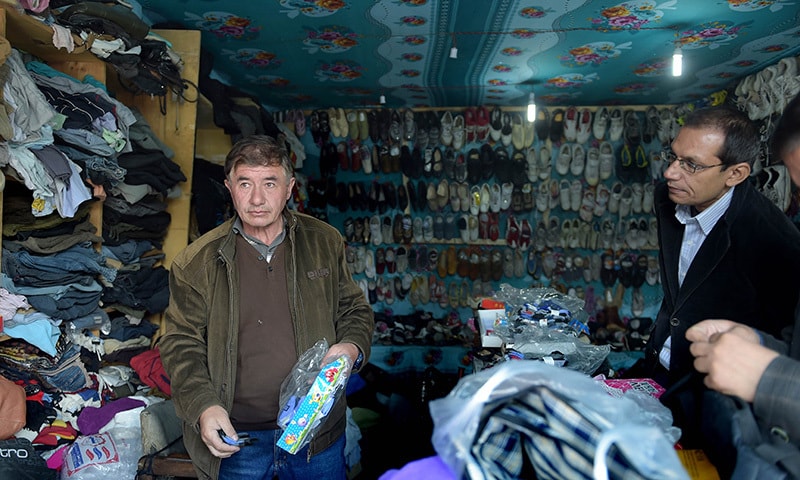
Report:
M346 403L337 399L309 445L275 446L281 383L318 340L325 360L369 357L374 316L330 225L290 211L285 149L267 136L233 146L225 185L237 216L192 242L170 267L159 348L184 443L201 478L345 479ZM247 433L257 442L228 445Z

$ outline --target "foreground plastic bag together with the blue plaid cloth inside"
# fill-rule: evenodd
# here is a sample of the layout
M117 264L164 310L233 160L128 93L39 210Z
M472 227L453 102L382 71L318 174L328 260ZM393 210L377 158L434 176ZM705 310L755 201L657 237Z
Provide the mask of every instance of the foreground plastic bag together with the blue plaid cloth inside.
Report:
M502 417L504 406L526 402L523 418L529 423L506 425L522 439L519 443L525 447L520 452L528 455L538 478L603 478L603 472L620 470L625 478L688 478L674 451L679 430L671 426L670 411L655 398L633 396L635 400L628 392L611 396L596 380L569 369L504 362L462 378L446 397L431 401L432 441L457 478L501 478L491 470L512 461L482 468L476 460L484 446L493 445L493 439L486 438L488 419L507 420ZM534 403L543 408L533 408ZM567 412L580 421L563 422ZM578 427L581 435L573 434ZM533 450L548 452L549 457L534 458ZM540 471L543 464L555 472Z

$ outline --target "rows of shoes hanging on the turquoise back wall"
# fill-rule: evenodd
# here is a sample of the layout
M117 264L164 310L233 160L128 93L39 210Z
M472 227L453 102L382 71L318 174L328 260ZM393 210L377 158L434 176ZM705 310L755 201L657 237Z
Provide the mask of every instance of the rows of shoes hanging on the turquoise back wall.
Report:
M472 344L473 308L508 283L585 299L597 341L637 348L661 301L653 189L679 113L313 111L306 211L344 235L376 344Z

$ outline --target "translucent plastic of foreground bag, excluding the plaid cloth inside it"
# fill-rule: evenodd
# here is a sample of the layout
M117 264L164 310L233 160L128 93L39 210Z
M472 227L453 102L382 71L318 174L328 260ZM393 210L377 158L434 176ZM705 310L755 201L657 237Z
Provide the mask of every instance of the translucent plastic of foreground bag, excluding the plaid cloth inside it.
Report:
M558 397L568 399L588 423L601 431L594 447L615 445L631 460L638 477L689 478L673 447L679 432L669 427L671 413L656 399L612 397L586 375L534 361L504 362L468 375L446 397L430 402L434 448L456 477L493 478L488 471L476 468L472 450L483 428L484 406L514 399L535 387L546 387ZM595 468L605 471L604 461L605 456L595 455L595 465L600 463ZM591 468L583 473L587 478L592 476Z

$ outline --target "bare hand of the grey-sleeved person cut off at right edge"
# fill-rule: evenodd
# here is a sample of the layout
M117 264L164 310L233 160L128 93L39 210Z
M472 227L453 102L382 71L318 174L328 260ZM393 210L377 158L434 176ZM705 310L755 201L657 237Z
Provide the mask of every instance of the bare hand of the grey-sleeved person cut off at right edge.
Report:
M758 382L778 352L760 344L750 327L730 320L703 320L686 331L692 342L694 368L705 373L703 383L726 395L751 402Z

